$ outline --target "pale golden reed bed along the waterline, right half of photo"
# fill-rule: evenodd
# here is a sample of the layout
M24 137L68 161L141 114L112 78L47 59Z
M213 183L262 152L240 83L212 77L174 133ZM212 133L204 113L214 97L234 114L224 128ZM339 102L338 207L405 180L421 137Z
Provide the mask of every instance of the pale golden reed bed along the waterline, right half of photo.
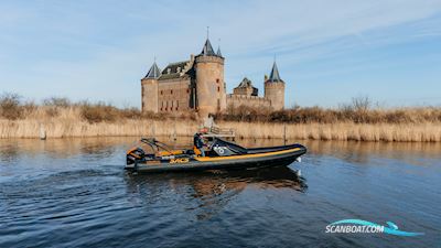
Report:
M441 123L268 123L222 122L238 138L440 142Z

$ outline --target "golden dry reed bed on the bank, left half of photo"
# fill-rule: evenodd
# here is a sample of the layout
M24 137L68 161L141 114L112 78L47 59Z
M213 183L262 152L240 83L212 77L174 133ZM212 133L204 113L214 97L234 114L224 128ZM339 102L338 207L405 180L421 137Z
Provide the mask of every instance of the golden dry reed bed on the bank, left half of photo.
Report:
M84 117L82 107L37 107L21 119L0 119L0 138L118 137L118 136L189 136L197 130L197 122L175 117L106 117L105 114ZM56 111L54 116L51 114ZM90 121L93 119L94 121ZM99 119L97 121L97 119ZM105 120L104 120L105 119Z

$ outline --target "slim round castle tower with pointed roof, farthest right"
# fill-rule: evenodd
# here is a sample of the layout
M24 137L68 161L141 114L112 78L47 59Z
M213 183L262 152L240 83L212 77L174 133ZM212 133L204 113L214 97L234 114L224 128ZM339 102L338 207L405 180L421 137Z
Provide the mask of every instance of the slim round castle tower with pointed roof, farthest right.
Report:
M281 110L284 107L284 82L280 78L277 64L272 65L271 74L265 80L265 98L271 101L273 110Z

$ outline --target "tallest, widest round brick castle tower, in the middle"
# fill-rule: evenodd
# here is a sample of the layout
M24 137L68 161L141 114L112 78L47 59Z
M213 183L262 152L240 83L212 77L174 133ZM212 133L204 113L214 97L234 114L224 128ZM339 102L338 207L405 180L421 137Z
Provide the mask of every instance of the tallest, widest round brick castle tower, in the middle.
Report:
M201 117L226 109L224 57L216 54L209 40L195 57L197 109Z

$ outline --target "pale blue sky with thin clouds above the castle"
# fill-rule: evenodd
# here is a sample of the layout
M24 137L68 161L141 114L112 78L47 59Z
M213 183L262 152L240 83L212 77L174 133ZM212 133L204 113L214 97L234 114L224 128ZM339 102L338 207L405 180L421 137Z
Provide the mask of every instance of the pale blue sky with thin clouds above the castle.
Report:
M263 94L277 61L286 106L441 106L441 0L0 1L0 94L140 107L140 79L209 40L230 93Z

